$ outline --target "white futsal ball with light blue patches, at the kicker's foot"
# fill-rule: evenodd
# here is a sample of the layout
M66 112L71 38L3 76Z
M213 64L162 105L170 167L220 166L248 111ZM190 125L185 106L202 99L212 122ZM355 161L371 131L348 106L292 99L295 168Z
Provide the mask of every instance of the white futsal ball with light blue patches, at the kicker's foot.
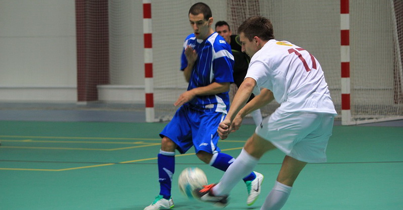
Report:
M185 168L180 174L178 179L180 192L187 198L195 198L193 190L196 188L203 188L207 185L207 176L205 172L196 167Z

